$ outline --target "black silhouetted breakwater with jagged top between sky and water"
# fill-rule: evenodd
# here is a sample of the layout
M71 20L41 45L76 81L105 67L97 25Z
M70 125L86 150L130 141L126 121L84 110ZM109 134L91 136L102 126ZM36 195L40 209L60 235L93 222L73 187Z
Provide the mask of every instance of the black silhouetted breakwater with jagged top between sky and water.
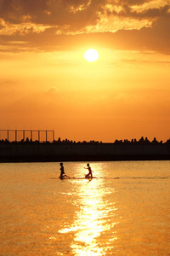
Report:
M127 161L170 160L170 140L167 143L140 142L71 143L71 142L2 142L0 162L58 161Z

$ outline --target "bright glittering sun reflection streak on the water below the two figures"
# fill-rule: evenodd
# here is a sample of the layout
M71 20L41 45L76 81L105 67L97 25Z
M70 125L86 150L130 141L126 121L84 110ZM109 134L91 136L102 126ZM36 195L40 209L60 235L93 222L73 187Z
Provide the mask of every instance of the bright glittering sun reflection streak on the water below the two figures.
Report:
M109 205L105 199L105 195L112 191L109 192L105 189L104 180L93 179L81 183L77 193L79 197L77 204L81 206L80 211L77 212L74 223L68 228L59 230L59 233L72 232L74 234L71 248L75 255L105 255L114 247L113 241L117 239L116 231L114 231L116 223L113 221L114 212L117 209L114 203L110 202ZM110 231L107 241L101 237L106 231Z

